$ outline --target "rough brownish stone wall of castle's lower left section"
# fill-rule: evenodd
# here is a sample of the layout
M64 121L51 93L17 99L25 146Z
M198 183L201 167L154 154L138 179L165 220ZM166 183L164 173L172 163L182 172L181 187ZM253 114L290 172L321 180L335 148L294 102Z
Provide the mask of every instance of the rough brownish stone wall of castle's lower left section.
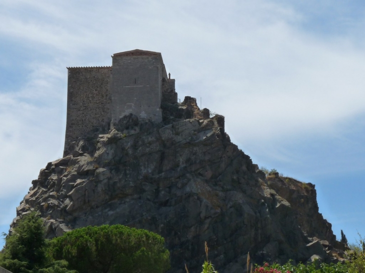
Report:
M71 142L96 127L110 124L111 67L69 67L67 121L63 156Z

